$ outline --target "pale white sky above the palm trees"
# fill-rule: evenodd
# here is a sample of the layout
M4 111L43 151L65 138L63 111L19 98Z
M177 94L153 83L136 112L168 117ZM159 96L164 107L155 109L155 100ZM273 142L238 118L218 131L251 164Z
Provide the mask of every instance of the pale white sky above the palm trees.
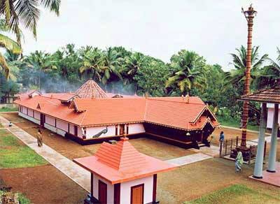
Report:
M179 50L193 50L208 64L232 68L230 53L246 45L247 22L241 7L258 11L253 45L276 59L280 47L278 0L62 0L60 15L43 11L37 40L25 31L25 54L76 48L123 46L168 62Z

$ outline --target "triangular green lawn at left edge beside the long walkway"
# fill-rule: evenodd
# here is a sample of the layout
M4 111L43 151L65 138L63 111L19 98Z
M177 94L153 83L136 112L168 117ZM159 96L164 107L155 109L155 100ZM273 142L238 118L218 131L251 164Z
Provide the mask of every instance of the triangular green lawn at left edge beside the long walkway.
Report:
M6 130L0 130L0 169L25 168L48 163Z

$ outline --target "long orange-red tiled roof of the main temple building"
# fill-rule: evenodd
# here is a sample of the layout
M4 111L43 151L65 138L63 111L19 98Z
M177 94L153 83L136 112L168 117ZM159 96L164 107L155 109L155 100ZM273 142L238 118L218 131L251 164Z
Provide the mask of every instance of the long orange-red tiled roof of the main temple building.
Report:
M116 99L73 99L70 108L58 99L45 96L29 98L22 96L15 103L78 126L104 126L109 124L125 124L149 122L177 129L202 129L198 117L204 110L209 110L198 97L190 97L190 102L179 101L181 97L165 98L116 98ZM181 99L182 100L182 99ZM195 103L193 103L195 102ZM75 111L76 110L76 111ZM77 112L78 111L78 112ZM209 110L211 113L211 111ZM214 126L216 118L211 117Z

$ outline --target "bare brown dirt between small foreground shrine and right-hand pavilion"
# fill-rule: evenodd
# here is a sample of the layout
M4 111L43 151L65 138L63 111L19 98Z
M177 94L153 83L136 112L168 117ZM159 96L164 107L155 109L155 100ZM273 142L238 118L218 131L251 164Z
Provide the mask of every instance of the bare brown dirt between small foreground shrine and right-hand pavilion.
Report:
M158 175L158 201L162 204L191 201L232 184L246 184L257 191L280 196L279 188L249 179L252 173L253 166L246 165L241 173L235 173L235 163L220 158L191 163Z

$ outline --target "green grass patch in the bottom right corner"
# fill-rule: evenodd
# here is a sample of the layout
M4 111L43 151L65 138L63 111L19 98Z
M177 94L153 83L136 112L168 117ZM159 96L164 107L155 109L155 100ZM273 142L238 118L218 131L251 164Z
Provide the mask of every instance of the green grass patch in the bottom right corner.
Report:
M280 198L248 188L244 184L234 184L185 203L280 203Z

